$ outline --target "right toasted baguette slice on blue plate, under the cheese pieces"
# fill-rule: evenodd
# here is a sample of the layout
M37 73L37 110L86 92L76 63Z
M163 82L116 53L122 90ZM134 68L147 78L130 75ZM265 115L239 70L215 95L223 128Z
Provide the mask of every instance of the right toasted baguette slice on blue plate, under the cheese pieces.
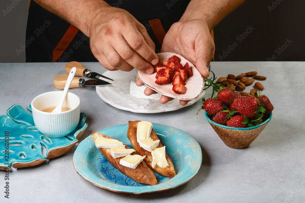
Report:
M144 161L146 162L147 166L149 166L149 168L169 178L174 177L176 175L174 165L171 162L167 153L165 153L165 157L169 166L166 166L165 168L161 168L160 166L156 165L155 168L152 168L152 153L140 147L139 143L137 142L138 122L140 121L128 121L127 137L130 140L133 148L139 155L146 156L144 158ZM153 129L150 133L150 138L152 138L152 140L159 139L158 136L156 135L156 132ZM159 142L157 148L159 147L162 147L161 142Z

